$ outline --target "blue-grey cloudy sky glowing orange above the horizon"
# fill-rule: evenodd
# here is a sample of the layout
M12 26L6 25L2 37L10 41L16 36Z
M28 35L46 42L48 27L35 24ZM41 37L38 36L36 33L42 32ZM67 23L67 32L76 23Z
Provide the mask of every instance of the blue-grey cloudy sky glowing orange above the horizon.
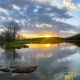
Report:
M80 0L0 0L0 27L16 21L28 37L80 33L79 17Z

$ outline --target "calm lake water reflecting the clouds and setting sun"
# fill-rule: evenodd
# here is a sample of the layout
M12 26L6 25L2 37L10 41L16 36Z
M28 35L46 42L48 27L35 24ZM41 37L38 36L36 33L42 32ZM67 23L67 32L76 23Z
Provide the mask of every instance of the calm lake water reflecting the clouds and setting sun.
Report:
M0 80L80 80L80 48L69 43L28 44L29 48L0 47L0 65L37 65L33 73L0 72Z

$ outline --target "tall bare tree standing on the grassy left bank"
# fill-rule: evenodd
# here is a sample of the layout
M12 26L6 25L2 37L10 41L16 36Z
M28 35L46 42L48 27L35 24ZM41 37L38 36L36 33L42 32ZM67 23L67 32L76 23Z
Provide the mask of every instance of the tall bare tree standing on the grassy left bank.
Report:
M18 31L21 30L19 24L15 21L5 22L4 23L4 31L2 32L4 38L8 42L12 42L15 40Z

